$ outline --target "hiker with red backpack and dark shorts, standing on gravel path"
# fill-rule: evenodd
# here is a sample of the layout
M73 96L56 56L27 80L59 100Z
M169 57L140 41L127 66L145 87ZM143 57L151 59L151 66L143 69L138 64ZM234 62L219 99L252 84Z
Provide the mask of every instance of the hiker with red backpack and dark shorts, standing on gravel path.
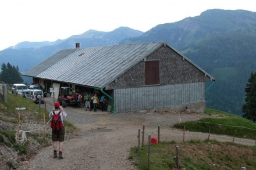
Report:
M63 118L67 117L66 112L60 106L59 102L54 103L54 109L49 113L49 118L51 118L51 128L52 128L52 145L54 146L54 158L57 158L57 147L59 142L59 159L63 159L63 141L65 136L65 128L63 124Z

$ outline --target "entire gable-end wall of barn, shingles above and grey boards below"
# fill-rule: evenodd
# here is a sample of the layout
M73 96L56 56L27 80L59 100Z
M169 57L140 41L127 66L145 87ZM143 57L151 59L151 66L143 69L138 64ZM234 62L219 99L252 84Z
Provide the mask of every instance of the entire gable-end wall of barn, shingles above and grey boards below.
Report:
M158 85L145 85L144 62L149 60L159 60ZM204 110L204 85L210 78L201 70L168 46L161 46L145 61L137 63L106 87L114 90L116 112L186 105Z

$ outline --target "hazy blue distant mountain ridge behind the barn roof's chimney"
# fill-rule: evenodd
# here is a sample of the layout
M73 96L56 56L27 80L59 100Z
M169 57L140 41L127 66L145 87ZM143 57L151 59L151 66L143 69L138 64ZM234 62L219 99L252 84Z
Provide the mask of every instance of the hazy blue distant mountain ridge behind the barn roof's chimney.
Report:
M135 37L143 34L142 31L128 27L119 27L110 32L88 30L80 35L72 35L66 39L58 39L54 42L20 42L16 46L0 51L0 62L18 66L21 72L29 70L36 64L47 59L62 49L75 48L77 42L81 48L87 46L104 46L119 44L121 39ZM115 36L116 35L116 36ZM24 48L27 45L28 48ZM5 57L8 56L8 57Z

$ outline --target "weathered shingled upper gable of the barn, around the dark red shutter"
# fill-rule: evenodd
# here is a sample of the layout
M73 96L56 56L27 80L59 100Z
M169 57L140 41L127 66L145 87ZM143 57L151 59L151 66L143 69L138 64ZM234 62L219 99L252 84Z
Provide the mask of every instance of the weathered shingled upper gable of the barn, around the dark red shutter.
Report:
M168 46L161 46L161 48L147 56L147 60L159 60L159 85L210 81L209 77L205 76L201 70L187 60L183 60L182 56L178 55ZM145 86L144 60L126 71L116 81L106 86L106 89L137 88L143 86Z

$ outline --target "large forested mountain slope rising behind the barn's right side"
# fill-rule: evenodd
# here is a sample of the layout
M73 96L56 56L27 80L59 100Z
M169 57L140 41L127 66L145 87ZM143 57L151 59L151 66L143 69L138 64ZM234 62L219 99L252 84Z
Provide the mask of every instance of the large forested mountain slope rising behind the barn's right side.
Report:
M200 16L158 25L122 43L150 41L168 42L215 77L214 86L205 93L207 107L243 114L244 88L256 71L255 12L207 10Z

